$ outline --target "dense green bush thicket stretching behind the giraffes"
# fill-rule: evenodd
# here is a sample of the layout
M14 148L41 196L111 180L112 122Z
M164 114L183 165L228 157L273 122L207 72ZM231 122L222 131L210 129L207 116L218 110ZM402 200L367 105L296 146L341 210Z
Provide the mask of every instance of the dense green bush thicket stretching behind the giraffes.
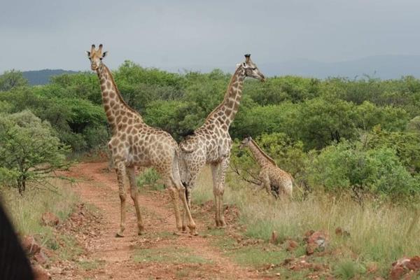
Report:
M220 70L168 73L132 62L113 73L124 99L146 123L177 140L202 124L230 80ZM57 149L64 144L83 153L109 139L94 73L64 74L30 87L22 73L8 71L0 76L0 90L2 118L30 111L50 123ZM230 132L234 139L256 139L303 193L343 190L358 201L365 195L407 201L420 193L420 80L411 76L246 80ZM247 179L258 171L248 153L236 149L232 165Z

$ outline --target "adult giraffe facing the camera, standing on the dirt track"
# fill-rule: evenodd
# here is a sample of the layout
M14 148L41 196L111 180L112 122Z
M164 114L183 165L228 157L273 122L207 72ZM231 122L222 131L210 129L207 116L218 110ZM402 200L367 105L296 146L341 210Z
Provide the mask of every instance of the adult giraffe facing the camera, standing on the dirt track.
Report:
M102 103L106 118L111 125L112 134L109 141L113 164L118 179L118 193L120 195L120 230L117 237L123 237L125 230L125 175L130 181L130 193L134 201L137 215L139 235L144 230L141 219L139 201L137 199L137 186L134 167L155 168L165 185L169 188L169 194L174 203L176 228L181 230L181 214L178 207L178 198L181 198L183 207L188 216L188 228L190 233L196 235L195 223L191 217L186 200L186 190L182 184L179 173L179 147L176 141L167 133L150 127L144 123L140 114L128 106L121 96L111 71L102 62L106 52L102 53L102 44L96 50L94 45L87 57L91 62L91 69L97 72L101 84Z

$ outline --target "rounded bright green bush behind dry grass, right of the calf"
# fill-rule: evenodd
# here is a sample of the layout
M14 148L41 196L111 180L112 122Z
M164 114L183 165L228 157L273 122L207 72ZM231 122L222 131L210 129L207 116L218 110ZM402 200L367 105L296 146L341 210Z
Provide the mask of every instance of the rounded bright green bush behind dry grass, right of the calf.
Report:
M419 195L419 181L391 148L365 148L343 141L328 146L307 165L309 182L327 191L353 190L385 198Z

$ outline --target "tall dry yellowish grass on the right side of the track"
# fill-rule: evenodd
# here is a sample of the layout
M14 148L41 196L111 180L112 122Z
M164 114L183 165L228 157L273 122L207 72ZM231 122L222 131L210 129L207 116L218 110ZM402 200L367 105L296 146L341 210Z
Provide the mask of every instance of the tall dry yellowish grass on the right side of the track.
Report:
M213 200L212 179L205 169L193 190L193 203ZM246 225L248 237L269 240L276 230L280 241L301 240L307 230L323 230L330 237L328 248L337 251L348 261L333 265L342 279L351 274L363 274L365 264L376 262L378 273L385 276L391 263L403 255L418 255L420 231L416 211L410 207L366 202L363 207L348 197L331 197L318 193L302 200L274 200L265 192L254 193L253 186L230 174L225 187L224 203L235 204L240 211L240 222ZM295 192L298 193L298 192ZM349 237L335 235L342 228ZM255 251L244 251L244 254ZM354 256L357 262L351 262ZM246 258L235 257L239 262ZM252 257L250 257L253 260ZM329 260L328 260L329 261ZM335 260L336 262L336 260Z

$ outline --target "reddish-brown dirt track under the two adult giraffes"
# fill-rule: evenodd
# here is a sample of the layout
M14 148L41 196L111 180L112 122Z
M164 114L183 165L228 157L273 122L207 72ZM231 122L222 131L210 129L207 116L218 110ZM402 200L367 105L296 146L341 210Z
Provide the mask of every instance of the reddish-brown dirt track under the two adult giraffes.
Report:
M116 238L120 199L116 175L106 172L106 167L106 162L89 162L66 172L66 176L80 179L74 189L83 202L97 207L100 217L83 218L85 214L73 214L69 231L85 253L77 260L52 264L52 279L264 278L255 269L240 267L223 256L220 249L212 245L214 237L172 235L175 217L165 191L139 194L145 223L145 233L141 236L137 235L134 206L127 192L125 237ZM195 219L199 234L213 223L213 218L207 216L206 219L211 221ZM176 258L177 251L182 253L181 258Z

